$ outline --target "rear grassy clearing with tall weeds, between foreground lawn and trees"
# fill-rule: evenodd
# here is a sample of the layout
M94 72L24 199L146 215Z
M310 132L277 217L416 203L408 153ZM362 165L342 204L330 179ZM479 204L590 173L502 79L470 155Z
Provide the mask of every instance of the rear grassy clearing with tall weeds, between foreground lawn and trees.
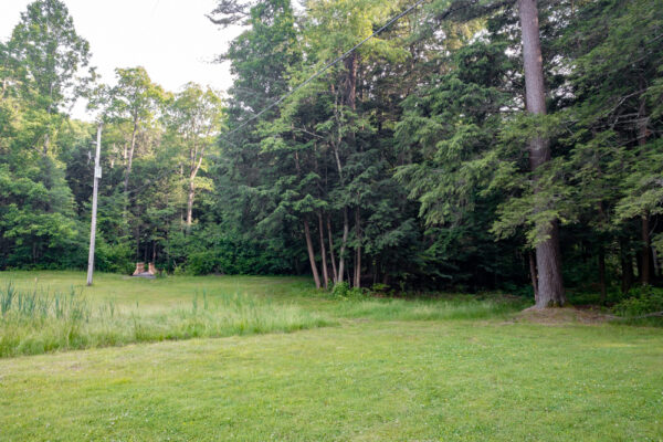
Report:
M505 316L518 299L333 298L302 278L0 274L0 357L131 343L287 333L339 319L440 320ZM67 291L69 292L60 292ZM234 290L234 292L229 292Z

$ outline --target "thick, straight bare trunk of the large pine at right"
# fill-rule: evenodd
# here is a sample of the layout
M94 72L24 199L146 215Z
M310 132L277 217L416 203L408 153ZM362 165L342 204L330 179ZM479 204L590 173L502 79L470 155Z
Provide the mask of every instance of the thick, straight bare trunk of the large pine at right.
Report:
M539 40L536 0L518 0L520 29L523 32L523 64L525 67L525 101L527 110L535 115L546 114L544 66ZM535 171L550 160L548 139L535 137L529 141L529 166ZM536 183L535 183L536 191ZM543 210L544 208L538 208ZM559 228L557 221L545 225L546 239L536 246L538 269L538 298L536 308L561 306L566 303L561 276Z

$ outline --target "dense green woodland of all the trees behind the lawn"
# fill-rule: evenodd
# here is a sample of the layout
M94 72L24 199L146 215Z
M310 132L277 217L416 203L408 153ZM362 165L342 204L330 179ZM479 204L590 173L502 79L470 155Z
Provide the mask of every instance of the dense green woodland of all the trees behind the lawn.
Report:
M219 0L210 20L244 27L220 92L98 78L66 6L34 1L0 41L0 270L85 267L97 125L70 113L87 99L98 271L541 306L661 285L660 0L422 2L260 114L413 3Z

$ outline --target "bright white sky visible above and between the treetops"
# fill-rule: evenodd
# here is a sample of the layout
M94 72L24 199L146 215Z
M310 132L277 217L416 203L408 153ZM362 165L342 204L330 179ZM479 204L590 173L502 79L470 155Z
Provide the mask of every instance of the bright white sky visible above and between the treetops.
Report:
M114 82L115 67L144 66L169 91L188 82L227 90L228 63L211 63L241 30L221 30L206 17L217 0L63 0L78 35L91 45L102 82ZM31 0L0 0L0 39L7 40ZM77 118L90 119L84 106Z

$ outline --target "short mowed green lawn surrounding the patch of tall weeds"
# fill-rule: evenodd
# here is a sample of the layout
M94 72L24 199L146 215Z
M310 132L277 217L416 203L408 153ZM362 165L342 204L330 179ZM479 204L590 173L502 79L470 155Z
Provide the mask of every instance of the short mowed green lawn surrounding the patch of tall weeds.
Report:
M0 283L10 277L84 281ZM127 311L232 291L324 320L2 358L1 441L663 440L661 328L532 324L511 317L518 303L459 296L338 301L301 278L95 281L91 302Z

